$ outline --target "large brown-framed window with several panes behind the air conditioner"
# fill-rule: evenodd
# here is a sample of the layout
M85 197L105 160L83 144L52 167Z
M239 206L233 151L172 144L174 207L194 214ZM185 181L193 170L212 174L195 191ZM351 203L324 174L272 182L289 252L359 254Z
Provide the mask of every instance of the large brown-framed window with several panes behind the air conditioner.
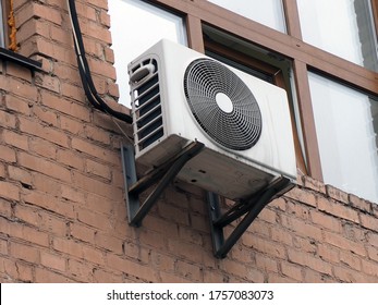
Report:
M286 88L296 126L293 133L298 169L378 204L378 1L108 2L111 11L119 2L139 9L134 15L144 16L142 12L154 15L148 20L139 17L139 22L126 27L132 16L126 17L122 12L117 32L125 37L119 30L123 28L131 44L146 42L130 60L153 44L147 44L146 33L155 33L156 39L151 40L162 36L163 27L156 26L157 19L164 21L168 28L173 25L171 39L186 44L187 32L187 44L195 50ZM142 32L133 30L135 24ZM155 28L157 32L153 32ZM117 64L124 69L122 73L118 69L118 76L120 86L124 86L125 65L130 60L119 62L118 59L131 54L132 49L118 52L118 44L114 40ZM121 100L124 96L129 96L127 90L121 93Z

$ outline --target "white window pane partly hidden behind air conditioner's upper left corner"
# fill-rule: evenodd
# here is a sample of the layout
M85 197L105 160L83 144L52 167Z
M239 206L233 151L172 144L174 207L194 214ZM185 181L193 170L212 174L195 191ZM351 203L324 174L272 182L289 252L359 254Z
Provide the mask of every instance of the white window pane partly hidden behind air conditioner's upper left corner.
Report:
M182 17L141 0L111 0L112 48L120 103L131 107L127 64L162 38L186 45Z

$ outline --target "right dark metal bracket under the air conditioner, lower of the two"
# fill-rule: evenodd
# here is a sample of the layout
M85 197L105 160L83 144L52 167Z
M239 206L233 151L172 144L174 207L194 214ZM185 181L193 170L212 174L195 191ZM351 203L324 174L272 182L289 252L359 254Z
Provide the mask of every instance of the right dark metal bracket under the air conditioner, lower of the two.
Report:
M252 195L248 199L236 202L223 213L220 208L219 196L208 192L207 202L210 216L214 255L217 258L224 258L264 207L266 207L278 194L289 190L290 185L291 181L288 178L279 176L267 187ZM225 239L223 228L242 216L244 216L244 218Z

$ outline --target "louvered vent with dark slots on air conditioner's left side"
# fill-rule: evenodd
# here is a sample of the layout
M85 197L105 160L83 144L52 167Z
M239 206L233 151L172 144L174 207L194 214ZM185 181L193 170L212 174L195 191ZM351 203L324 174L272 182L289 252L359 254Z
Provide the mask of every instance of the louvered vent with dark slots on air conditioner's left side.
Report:
M136 150L141 151L163 136L159 70L155 59L144 60L131 70L132 114Z

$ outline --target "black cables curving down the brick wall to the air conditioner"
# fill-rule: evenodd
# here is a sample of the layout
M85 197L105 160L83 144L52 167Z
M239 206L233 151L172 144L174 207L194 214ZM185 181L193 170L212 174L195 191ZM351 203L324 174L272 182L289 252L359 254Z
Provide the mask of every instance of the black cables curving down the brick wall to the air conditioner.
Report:
M88 65L88 61L85 57L86 52L85 52L83 36L82 36L80 23L78 23L75 1L74 0L68 0L68 4L69 4L70 17L71 17L71 22L72 22L72 29L73 29L73 36L74 36L74 45L75 45L75 52L76 52L78 71L80 71L83 88L84 88L84 91L85 91L87 99L96 109L99 109L103 112L107 112L107 113L113 115L114 118L122 120L126 123L132 123L133 119L129 114L113 110L98 95L96 87L94 85L92 75L90 75L90 69Z

